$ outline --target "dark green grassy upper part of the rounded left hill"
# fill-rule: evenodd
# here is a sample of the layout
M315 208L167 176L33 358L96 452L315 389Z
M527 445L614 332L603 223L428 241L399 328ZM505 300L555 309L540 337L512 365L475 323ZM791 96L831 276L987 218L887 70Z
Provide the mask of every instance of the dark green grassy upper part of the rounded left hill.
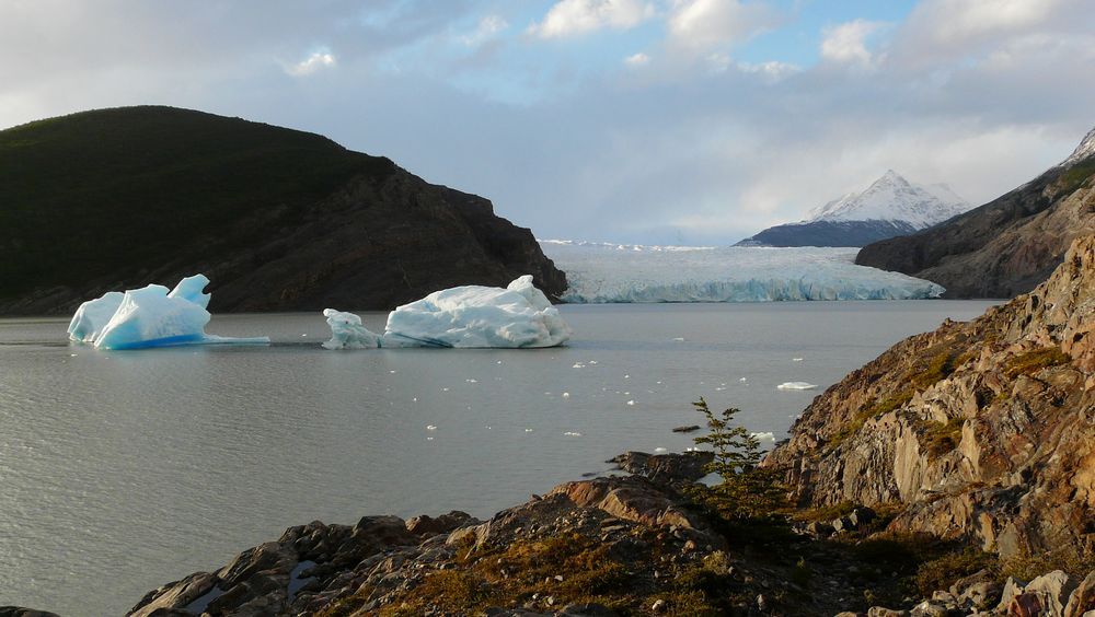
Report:
M324 137L171 107L85 112L0 131L0 298L164 256L258 210L295 210L391 161ZM199 256L194 255L194 258ZM127 268L123 268L128 266Z

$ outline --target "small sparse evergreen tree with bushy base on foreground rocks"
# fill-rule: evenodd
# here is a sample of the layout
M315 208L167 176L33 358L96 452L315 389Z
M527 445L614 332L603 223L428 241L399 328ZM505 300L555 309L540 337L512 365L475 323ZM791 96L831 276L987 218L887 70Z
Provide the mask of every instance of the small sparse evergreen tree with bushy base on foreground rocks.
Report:
M740 409L730 407L716 417L703 397L692 405L706 417L711 430L693 441L715 452L714 461L704 470L718 474L723 480L713 487L694 486L690 490L692 499L727 520L768 519L785 508L786 489L779 470L760 467L760 442L745 427L731 426Z

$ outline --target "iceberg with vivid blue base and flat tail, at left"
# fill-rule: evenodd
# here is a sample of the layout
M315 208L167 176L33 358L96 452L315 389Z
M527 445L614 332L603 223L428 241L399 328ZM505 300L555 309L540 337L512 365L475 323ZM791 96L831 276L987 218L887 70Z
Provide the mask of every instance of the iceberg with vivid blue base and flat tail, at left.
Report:
M209 279L187 277L173 290L150 284L125 293L111 291L77 308L69 323L69 339L96 349L145 349L181 345L267 345L269 338L231 338L207 335L211 315Z

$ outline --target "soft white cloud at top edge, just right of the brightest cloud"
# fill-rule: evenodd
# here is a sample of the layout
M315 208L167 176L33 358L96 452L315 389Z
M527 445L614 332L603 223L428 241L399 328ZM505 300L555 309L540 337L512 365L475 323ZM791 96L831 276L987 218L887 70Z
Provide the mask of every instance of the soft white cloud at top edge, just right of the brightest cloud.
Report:
M669 36L679 47L711 49L746 40L776 23L768 5L739 0L672 0Z

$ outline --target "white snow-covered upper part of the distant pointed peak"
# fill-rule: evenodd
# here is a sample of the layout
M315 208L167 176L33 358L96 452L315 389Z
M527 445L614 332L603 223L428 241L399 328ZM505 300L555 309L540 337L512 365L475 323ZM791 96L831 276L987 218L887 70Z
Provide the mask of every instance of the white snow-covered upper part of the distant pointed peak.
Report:
M904 221L922 230L971 207L945 184L913 184L889 170L863 193L850 193L810 210L803 222Z

